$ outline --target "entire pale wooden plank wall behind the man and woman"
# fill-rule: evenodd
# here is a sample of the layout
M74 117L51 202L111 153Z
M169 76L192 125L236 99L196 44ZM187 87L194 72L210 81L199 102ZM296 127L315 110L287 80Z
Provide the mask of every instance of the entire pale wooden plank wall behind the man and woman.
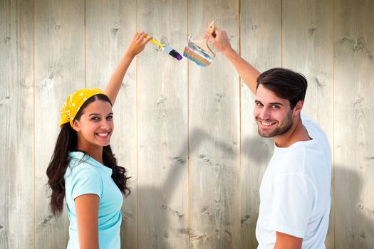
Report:
M371 0L0 0L0 248L66 248L46 166L71 92L104 88L137 29L182 53L212 20L259 70L308 78L304 110L333 151L326 248L374 247ZM273 144L254 95L217 53L199 68L150 43L130 65L111 142L132 176L122 248L256 248Z

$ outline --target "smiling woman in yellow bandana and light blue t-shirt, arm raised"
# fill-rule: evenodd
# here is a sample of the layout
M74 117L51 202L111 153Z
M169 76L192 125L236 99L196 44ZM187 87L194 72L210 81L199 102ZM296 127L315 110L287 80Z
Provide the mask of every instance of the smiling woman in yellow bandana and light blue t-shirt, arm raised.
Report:
M131 61L151 37L137 32L105 92L82 89L68 97L61 110L61 131L47 168L51 209L70 221L68 248L120 248L120 208L129 194L125 168L117 165L110 137L112 106Z

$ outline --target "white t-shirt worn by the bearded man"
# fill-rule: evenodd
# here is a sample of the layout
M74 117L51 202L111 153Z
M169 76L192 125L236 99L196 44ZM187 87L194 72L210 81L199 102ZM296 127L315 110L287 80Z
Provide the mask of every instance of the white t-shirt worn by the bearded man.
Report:
M325 248L330 213L331 149L326 134L301 115L309 141L274 144L260 187L258 248L274 248L276 231L303 238L302 248Z

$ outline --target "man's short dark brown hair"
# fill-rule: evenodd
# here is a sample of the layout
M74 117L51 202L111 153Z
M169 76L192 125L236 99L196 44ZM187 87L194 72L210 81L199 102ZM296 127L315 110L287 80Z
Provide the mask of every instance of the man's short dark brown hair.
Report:
M304 100L308 83L301 73L285 68L272 68L259 75L257 88L262 84L282 99L289 100L291 109L294 109L299 100Z

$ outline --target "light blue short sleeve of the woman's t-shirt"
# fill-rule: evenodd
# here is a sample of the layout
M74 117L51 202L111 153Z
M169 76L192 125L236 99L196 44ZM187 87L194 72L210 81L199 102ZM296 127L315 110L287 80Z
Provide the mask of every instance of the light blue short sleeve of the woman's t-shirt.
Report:
M71 197L73 200L83 194L96 194L101 198L103 182L95 166L81 165L74 171L71 181Z

